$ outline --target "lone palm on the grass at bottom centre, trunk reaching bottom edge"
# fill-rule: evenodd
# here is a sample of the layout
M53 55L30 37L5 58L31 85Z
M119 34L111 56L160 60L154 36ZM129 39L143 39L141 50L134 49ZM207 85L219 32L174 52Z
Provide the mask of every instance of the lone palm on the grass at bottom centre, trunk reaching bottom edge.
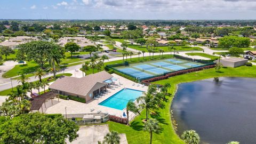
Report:
M152 143L152 136L154 133L159 133L161 127L159 126L159 122L156 119L149 119L148 122L145 123L143 131L147 131L150 133L150 144Z

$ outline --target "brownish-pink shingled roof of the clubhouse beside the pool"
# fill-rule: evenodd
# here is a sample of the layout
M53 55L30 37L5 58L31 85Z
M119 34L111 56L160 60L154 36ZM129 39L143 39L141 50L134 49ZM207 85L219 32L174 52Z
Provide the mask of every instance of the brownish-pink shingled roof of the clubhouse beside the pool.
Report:
M78 95L86 95L95 84L102 84L102 82L112 77L113 76L106 71L100 71L99 73L81 78L62 76L51 84L49 88Z

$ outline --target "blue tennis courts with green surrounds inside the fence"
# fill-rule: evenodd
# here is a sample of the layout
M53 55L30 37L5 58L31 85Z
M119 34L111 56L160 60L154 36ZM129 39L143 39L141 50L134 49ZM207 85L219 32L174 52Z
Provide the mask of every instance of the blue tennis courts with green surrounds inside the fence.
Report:
M200 67L203 63L187 61L183 59L164 59L156 61L148 61L143 63L134 63L129 66L115 67L117 70L122 71L124 74L128 74L138 79L150 78L153 76L161 76L173 71Z

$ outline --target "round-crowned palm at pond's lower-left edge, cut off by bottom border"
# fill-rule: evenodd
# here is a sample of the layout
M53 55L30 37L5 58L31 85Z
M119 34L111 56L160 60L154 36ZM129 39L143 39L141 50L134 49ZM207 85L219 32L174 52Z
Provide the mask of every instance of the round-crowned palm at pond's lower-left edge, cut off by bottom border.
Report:
M189 130L189 131L183 132L183 134L181 135L181 138L187 144L198 144L200 142L200 137L195 130Z

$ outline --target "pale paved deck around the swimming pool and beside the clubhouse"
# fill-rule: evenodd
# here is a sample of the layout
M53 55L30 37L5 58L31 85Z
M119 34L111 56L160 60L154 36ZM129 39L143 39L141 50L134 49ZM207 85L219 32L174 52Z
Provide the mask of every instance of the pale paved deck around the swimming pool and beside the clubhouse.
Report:
M101 111L101 113L108 113L110 115L116 115L121 117L123 115L123 112L126 110L118 110L118 109L113 109L105 106L100 106L98 103L106 100L107 98L111 97L111 95L115 94L116 92L128 88L128 89L134 89L134 90L140 90L140 91L147 91L148 87L144 86L142 87L141 84L138 85L138 83L135 83L130 81L129 79L126 79L124 77L121 77L116 74L112 74L115 78L119 78L120 83L123 85L116 86L115 89L107 89L108 92L103 95L102 97L99 97L97 99L93 99L91 101L88 101L87 103L82 103L82 102L77 102L73 100L63 100L60 99L60 102L57 103L56 105L53 105L45 111L46 114L65 114L65 107L67 107L67 114L85 114L85 113L97 113L98 111ZM119 80L117 80L116 83L119 83ZM94 109L91 111L91 109ZM134 116L133 113L129 113L130 118ZM130 119L129 118L129 119Z

